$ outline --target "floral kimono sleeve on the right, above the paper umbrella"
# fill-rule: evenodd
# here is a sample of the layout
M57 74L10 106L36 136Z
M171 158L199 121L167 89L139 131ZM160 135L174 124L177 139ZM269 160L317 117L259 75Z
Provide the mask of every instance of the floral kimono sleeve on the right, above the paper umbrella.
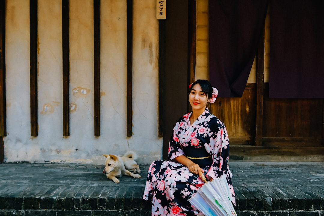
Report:
M219 120L218 120L219 121ZM208 179L221 177L228 173L229 141L225 125L219 121L218 132L209 143L213 155L213 164L207 172Z

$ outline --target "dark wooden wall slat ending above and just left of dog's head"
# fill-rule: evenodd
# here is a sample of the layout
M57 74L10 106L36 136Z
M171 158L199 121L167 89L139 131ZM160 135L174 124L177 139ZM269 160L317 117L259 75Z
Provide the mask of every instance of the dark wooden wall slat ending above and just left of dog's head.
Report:
M94 135L100 136L100 0L93 2Z

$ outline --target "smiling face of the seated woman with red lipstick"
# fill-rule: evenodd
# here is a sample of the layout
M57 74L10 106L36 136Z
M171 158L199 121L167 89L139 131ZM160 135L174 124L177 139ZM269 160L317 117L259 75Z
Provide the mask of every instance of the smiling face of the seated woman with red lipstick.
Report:
M191 92L189 94L189 103L194 111L203 111L206 108L208 102L208 97L203 93L202 88L199 84L196 84L192 87Z

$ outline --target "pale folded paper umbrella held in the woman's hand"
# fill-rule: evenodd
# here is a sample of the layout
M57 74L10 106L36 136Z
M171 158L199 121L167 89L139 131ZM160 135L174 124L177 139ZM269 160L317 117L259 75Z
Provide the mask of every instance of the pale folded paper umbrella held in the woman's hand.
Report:
M189 202L206 216L237 216L230 199L230 189L226 178L215 178L191 196Z

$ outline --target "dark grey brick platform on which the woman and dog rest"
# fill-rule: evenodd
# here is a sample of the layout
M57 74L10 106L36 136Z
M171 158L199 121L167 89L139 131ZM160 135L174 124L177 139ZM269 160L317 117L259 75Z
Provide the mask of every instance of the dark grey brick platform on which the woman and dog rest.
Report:
M0 164L2 215L151 215L142 178L113 183L95 164ZM324 216L324 162L237 162L238 216Z

